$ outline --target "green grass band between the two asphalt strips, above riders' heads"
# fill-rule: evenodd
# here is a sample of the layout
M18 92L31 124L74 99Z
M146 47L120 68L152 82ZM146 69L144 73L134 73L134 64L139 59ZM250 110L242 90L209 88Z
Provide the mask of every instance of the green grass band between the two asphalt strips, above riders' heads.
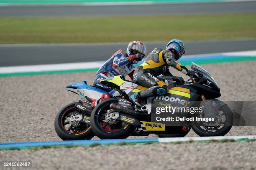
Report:
M256 37L256 13L0 18L0 44L223 40Z

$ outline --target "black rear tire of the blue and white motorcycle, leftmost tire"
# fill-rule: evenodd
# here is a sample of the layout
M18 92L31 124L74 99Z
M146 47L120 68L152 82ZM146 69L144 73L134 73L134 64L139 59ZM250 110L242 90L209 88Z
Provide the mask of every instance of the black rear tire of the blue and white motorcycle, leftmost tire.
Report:
M92 128L89 125L84 127L85 129L78 133L69 132L63 125L64 123L64 115L69 114L72 111L77 110L75 104L77 102L70 103L69 105L64 106L59 112L57 113L54 121L54 128L62 140L90 140L94 137L94 133L92 132Z

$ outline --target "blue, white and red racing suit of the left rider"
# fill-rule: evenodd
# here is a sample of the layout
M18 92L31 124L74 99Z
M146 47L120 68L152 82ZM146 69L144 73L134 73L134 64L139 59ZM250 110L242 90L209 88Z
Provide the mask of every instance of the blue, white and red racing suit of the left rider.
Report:
M100 80L117 75L128 75L133 81L134 69L133 62L128 60L128 55L122 50L118 50L97 71L93 80L93 85L107 91L112 96L119 95L119 92L113 90L111 87L100 84Z

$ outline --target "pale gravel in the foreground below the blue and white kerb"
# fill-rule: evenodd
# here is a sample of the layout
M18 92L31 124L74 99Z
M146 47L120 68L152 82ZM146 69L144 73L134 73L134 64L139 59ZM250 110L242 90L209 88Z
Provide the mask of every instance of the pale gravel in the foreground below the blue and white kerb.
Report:
M0 160L31 160L46 170L255 170L256 141L0 150Z

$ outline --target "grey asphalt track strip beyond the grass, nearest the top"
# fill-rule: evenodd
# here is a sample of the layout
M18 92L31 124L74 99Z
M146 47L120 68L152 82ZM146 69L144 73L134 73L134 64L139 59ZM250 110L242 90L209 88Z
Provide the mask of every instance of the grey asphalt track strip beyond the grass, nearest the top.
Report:
M159 10L161 9L161 10ZM52 17L84 15L182 15L215 13L253 13L254 2L213 2L154 5L107 6L3 6L0 17Z

